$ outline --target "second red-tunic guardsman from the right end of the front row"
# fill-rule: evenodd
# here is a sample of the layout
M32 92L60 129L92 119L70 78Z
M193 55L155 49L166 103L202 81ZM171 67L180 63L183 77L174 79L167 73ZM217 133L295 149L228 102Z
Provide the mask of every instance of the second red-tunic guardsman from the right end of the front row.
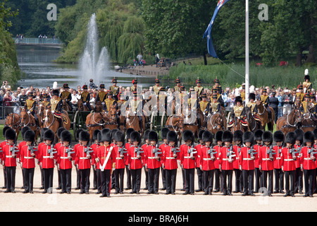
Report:
M294 149L294 144L296 141L296 133L294 132L289 132L285 136L285 143L286 147L282 148L282 153L280 155L281 157L281 165L282 165L282 171L284 172L285 175L285 190L286 196L292 196L294 197L295 195L295 160L297 159L298 155L293 155Z

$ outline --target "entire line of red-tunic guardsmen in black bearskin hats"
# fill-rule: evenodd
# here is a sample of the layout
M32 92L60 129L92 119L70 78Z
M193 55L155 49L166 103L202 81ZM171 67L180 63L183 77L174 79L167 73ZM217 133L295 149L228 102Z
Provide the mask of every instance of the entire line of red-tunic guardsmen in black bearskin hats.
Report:
M127 189L130 194L139 194L142 168L145 169L148 194L159 194L159 174L162 172L166 194L175 194L178 164L182 168L184 194L194 194L194 169L197 169L199 190L211 195L213 181L215 192L232 195L232 175L235 172L236 191L243 196L254 196L261 188L266 188L268 196L274 193L294 196L295 189L302 193L304 173L304 196L313 197L316 188L317 129L313 132L296 130L284 133L276 131L199 131L199 144L194 145L192 131L184 131L184 144L178 148L178 135L167 128L161 130L163 143L159 145L159 134L147 130L144 141L137 131L128 129L126 133L118 129L94 131L94 143L89 145L89 133L78 134L79 143L70 145L72 136L66 129L58 129L59 142L54 143L54 133L42 129L43 142L33 145L35 133L23 128L24 141L16 144L16 133L10 127L4 128L6 141L0 144L1 160L4 165L4 192L15 192L15 171L17 162L23 169L23 193L33 193L33 178L36 162L42 172L43 193L51 193L54 166L58 168L61 194L70 194L71 170L75 165L80 194L89 194L90 169L93 166L94 181L101 197L110 197L111 187L116 194L123 194L123 179L126 169ZM125 139L126 136L126 139ZM276 145L273 145L275 141ZM111 183L111 175L114 178ZM285 178L284 178L285 177ZM255 178L255 189L254 189ZM284 182L285 179L285 182ZM297 184L297 188L295 188ZM284 188L285 185L285 188Z

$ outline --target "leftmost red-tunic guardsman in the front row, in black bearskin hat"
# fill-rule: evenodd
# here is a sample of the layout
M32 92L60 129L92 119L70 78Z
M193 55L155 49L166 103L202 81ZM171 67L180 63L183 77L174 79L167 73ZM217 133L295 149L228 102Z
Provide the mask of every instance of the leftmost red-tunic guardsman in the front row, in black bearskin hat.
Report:
M14 129L7 129L5 133L6 145L2 146L2 162L6 169L6 191L15 193L16 160L20 157L18 147L14 145L16 133Z

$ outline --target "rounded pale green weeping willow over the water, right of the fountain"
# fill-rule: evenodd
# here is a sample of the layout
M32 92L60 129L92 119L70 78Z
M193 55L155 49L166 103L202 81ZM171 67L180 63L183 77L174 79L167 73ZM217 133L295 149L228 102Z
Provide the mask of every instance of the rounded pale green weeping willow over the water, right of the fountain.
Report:
M118 61L127 62L135 59L139 52L142 52L144 21L142 18L131 16L125 21L123 35L118 40Z

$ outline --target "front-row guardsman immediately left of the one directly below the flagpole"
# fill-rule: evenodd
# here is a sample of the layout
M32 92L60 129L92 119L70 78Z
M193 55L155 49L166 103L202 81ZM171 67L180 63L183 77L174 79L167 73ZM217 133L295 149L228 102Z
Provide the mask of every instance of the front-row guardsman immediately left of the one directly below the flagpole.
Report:
M219 169L223 174L223 196L232 196L233 162L237 155L232 148L232 139L233 133L231 131L223 132L223 143L225 145L220 149L219 154Z

